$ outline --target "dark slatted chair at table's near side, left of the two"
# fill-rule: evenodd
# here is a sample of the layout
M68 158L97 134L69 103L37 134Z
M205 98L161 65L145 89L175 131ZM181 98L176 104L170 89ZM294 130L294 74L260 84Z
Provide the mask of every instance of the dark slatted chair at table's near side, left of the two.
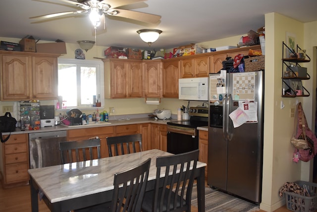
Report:
M139 166L114 174L112 201L75 212L141 212L151 159Z

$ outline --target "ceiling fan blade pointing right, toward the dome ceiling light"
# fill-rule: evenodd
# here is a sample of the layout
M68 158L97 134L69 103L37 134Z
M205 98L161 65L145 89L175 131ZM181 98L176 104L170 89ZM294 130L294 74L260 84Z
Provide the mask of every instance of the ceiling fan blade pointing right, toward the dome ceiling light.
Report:
M137 11L132 11L132 10L126 10L126 9L117 9L115 8L119 13L113 16L119 16L123 18L129 18L137 21L142 21L146 23L152 23L155 24L159 21L160 16L159 15L154 15L154 14L149 14L145 12L137 12ZM111 11L111 9L110 9ZM111 13L107 13L108 15L111 15Z

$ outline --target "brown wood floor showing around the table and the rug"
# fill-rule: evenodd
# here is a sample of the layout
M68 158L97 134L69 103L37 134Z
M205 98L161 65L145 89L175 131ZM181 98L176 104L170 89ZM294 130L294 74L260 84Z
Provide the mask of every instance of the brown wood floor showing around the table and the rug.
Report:
M9 189L0 186L0 212L31 212L30 186ZM43 201L39 201L39 212L50 212ZM197 212L197 208L192 207L192 212ZM274 212L289 212L289 210L283 206Z

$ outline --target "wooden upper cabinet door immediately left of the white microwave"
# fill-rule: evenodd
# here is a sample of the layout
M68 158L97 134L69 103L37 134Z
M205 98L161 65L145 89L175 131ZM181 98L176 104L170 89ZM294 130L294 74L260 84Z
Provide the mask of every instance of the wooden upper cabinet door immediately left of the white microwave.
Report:
M163 97L178 98L179 60L163 62Z

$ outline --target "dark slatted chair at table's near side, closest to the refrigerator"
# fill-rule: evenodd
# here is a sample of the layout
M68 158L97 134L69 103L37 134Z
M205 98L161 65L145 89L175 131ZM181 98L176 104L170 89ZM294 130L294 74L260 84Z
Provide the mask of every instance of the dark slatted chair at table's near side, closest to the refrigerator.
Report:
M142 212L190 212L198 154L199 150L195 150L157 158L155 188L145 193ZM176 173L177 165L179 173ZM161 171L164 171L164 178L159 178Z

